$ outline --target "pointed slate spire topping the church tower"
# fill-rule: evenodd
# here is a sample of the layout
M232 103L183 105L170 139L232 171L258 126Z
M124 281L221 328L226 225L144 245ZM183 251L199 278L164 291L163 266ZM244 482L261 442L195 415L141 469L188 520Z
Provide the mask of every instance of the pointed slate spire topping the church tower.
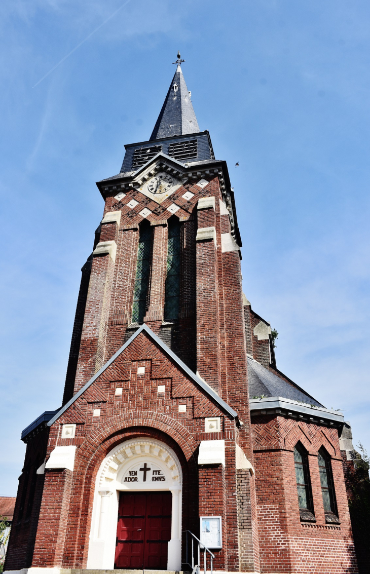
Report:
M194 134L198 131L200 130L191 97L186 87L181 66L178 65L154 126L151 140L167 138L172 135Z

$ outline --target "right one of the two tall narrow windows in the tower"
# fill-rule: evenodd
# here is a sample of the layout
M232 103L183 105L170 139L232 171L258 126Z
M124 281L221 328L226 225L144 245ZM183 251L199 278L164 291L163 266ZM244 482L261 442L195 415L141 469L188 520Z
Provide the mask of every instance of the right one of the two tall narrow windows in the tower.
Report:
M180 222L172 217L168 222L167 278L165 280L164 320L179 316L180 306Z

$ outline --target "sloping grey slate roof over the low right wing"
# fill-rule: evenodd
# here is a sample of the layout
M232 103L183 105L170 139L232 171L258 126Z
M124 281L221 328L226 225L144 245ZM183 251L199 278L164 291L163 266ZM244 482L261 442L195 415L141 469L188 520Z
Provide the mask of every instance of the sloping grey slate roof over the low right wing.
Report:
M283 397L292 401L305 402L309 405L323 406L295 383L284 381L257 363L256 360L248 357L247 361L250 399L265 395L265 397Z

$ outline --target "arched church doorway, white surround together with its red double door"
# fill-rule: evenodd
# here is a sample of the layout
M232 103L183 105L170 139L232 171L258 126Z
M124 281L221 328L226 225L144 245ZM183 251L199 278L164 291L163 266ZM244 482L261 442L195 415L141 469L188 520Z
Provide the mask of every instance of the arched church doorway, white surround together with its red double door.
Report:
M155 439L125 441L95 481L87 568L180 570L181 522L175 452Z

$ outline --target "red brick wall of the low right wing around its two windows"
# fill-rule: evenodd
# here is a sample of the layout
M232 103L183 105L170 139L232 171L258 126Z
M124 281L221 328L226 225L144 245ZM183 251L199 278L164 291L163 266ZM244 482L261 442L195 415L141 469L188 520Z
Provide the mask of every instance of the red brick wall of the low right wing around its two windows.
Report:
M337 429L272 415L252 422L261 571L357 572ZM300 520L293 459L298 440L309 453L315 523ZM325 521L317 461L322 445L332 457L340 525Z

